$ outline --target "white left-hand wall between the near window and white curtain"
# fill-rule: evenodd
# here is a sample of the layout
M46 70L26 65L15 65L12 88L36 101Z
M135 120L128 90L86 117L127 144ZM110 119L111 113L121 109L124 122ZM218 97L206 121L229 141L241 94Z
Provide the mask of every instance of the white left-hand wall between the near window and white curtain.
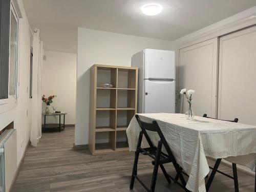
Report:
M14 129L17 130L17 164L22 159L30 135L27 117L29 99L27 87L30 63L29 23L22 1L18 1L18 4L23 15L23 18L19 20L19 97L14 108L0 113L0 130L3 130L6 125L14 121ZM4 105L8 104L0 105L0 111L5 108Z

